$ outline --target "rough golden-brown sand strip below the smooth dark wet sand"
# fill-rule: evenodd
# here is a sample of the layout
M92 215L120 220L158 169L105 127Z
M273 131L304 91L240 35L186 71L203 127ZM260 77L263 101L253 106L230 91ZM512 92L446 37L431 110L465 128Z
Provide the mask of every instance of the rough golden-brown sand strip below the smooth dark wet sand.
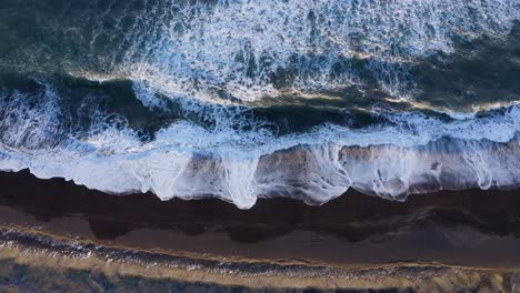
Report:
M43 270L46 277L39 283L70 282L81 286L78 280L63 279L64 272L74 275L103 275L112 285L124 285L127 279L144 280L163 286L220 290L223 292L287 292L311 290L342 292L431 292L457 290L513 291L520 285L520 270L449 266L437 263L394 263L373 266L324 267L304 264L276 264L261 262L222 262L216 260L179 260L163 253L131 251L128 247L103 247L93 243L79 244L74 240L37 238L39 232L27 233L10 230L0 232L0 277L6 277L4 266L24 266L26 270ZM11 238L6 240L6 234ZM18 238L18 240L16 240ZM21 243L31 239L32 243ZM39 241L52 243L38 247ZM23 241L22 241L23 242ZM40 242L41 243L41 242ZM62 244L56 245L57 243ZM63 245L72 244L69 251ZM59 247L57 247L59 246ZM206 263L204 263L206 262ZM211 262L212 265L208 265ZM202 264L203 263L203 264ZM251 271L254 267L256 271ZM243 270L246 269L246 270ZM68 272L67 274L70 274ZM36 274L38 277L40 275ZM61 277L61 279L57 279ZM157 285L157 284L156 284ZM2 286L2 284L0 284ZM89 284L90 286L90 284ZM62 284L62 287L63 284ZM40 287L41 289L41 287Z

